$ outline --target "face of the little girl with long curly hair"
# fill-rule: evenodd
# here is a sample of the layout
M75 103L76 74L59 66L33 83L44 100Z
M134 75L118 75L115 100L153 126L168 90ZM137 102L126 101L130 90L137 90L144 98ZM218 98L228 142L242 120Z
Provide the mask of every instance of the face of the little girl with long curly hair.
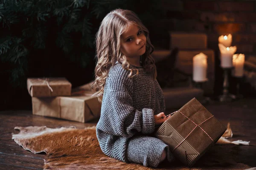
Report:
M120 50L128 58L140 57L146 51L146 42L146 37L140 27L131 25L121 35Z

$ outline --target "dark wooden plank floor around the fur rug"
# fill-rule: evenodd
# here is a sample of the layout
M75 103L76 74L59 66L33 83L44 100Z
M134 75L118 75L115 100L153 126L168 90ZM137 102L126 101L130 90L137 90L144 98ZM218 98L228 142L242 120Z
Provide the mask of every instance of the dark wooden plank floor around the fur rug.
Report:
M256 99L241 99L236 102L222 104L210 102L205 107L225 126L230 121L233 130L231 141L238 139L250 141L250 146L239 146L240 153L236 161L256 167ZM166 111L166 114L172 111ZM97 120L90 123L72 122L32 115L32 111L0 112L0 170L42 170L45 154L34 154L24 150L12 140L15 126L76 126L84 128L96 125Z

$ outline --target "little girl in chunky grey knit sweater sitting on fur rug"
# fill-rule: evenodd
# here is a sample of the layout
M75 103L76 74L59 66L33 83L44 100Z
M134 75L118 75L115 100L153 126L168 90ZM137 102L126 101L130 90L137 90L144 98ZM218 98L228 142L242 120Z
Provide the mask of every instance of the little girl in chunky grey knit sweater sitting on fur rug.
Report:
M92 88L102 101L96 134L103 153L157 167L173 156L168 145L151 137L168 118L148 33L132 11L116 9L107 14L96 35L98 61Z

